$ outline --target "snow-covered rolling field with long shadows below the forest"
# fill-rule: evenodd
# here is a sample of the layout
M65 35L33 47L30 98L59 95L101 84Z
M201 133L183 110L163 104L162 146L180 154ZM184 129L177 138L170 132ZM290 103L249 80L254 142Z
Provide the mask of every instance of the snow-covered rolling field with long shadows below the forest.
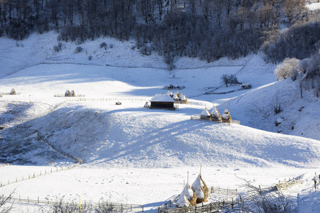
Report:
M240 192L240 178L269 186L302 175L304 183L286 194L299 212L320 211L312 180L320 173L319 99L308 91L299 98L292 80L276 82L275 65L260 55L213 63L181 58L170 72L160 56L133 50L132 41L99 38L81 44L84 50L77 54L78 45L61 42L55 53L57 35L34 34L18 42L0 38L0 92L18 93L0 97L0 126L6 128L0 130L0 162L9 162L0 164L0 181L11 182L0 187L0 195L14 191L14 197L68 202L81 197L144 204L156 212L181 192L187 172L192 182L203 165L209 187ZM107 50L99 47L102 42ZM237 74L252 89L218 94L240 88L223 86L223 74ZM166 93L168 84L185 87L179 92L189 104L176 111L144 108L154 94ZM82 97L54 97L67 89ZM276 98L283 108L277 115L271 107ZM191 120L213 104L221 113L228 107L242 125ZM282 124L275 126L276 119ZM74 163L38 134L81 158L82 165L14 183ZM38 205L14 207L19 212Z

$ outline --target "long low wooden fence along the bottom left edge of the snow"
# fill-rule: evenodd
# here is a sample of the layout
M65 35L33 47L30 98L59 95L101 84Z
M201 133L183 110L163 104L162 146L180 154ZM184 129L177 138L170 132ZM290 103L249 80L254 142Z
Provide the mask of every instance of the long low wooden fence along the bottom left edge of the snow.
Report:
M79 207L79 202L75 202L73 200L72 203L70 202L53 202L50 200L39 200L39 197L37 200L31 200L29 197L27 199L21 199L14 198L14 197L3 197L4 199L10 200L12 203L28 203L28 204L48 204L52 206L68 206L68 207ZM89 209L97 209L103 205L108 205L109 207L112 207L113 209L121 209L124 212L144 212L144 205L140 204L121 204L121 203L114 203L114 202L82 202L81 207L82 208L89 208Z

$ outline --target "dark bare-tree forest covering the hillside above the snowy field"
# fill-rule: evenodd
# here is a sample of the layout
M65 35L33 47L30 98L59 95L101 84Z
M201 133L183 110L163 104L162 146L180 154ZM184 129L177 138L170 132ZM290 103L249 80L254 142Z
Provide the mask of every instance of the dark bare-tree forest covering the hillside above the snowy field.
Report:
M305 0L0 0L0 14L1 36L54 30L78 44L134 39L133 48L163 55L170 69L181 56L211 62L263 50L277 63L320 48L320 13Z

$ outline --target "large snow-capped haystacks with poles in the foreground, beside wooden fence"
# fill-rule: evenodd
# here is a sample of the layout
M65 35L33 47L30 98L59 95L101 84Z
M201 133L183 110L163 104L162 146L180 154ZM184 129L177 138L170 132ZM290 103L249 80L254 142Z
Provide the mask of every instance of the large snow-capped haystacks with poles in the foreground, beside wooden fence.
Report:
M202 180L201 175L198 175L191 187L188 183L185 185L176 202L176 207L195 206L198 203L207 202L208 197L209 189L206 182Z

